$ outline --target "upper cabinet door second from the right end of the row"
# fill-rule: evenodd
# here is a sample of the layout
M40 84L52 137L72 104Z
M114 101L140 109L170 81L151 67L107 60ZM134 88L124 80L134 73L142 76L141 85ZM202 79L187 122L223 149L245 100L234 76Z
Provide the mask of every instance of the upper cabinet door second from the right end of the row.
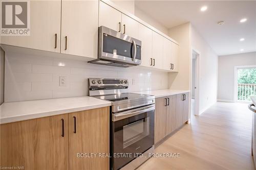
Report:
M171 70L170 64L172 60L172 41L163 38L163 69Z

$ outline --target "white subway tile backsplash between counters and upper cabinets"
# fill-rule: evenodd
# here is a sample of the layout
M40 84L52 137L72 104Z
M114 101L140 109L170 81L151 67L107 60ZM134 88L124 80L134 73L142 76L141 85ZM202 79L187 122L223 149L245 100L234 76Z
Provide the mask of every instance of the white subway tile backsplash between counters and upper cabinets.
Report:
M66 77L66 86L59 86L60 76ZM168 86L167 72L9 52L5 62L5 102L87 95L88 78L125 78L130 92Z

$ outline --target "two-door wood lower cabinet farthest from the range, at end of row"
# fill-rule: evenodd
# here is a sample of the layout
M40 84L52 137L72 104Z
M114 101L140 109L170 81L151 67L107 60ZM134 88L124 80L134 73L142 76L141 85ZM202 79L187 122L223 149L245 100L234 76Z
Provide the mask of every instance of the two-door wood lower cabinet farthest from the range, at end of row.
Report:
M189 119L189 93L177 94L176 128L179 128Z

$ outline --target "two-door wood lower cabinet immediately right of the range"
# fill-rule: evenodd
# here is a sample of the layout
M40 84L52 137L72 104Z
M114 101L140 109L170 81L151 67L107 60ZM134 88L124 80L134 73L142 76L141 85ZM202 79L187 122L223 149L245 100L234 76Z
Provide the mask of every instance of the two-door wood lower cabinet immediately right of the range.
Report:
M175 130L176 95L156 99L155 143Z

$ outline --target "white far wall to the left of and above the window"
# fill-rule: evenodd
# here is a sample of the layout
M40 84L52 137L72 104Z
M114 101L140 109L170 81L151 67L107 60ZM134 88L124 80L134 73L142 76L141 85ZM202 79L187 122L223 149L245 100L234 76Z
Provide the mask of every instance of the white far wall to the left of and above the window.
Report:
M233 102L234 66L255 64L256 52L219 56L218 100Z

